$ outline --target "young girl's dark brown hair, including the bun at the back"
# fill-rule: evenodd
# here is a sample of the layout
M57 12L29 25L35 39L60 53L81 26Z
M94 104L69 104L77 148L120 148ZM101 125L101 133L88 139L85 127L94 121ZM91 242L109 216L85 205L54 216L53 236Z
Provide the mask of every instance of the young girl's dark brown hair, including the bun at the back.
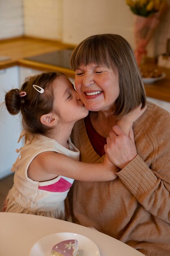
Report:
M30 76L23 83L21 89L12 89L5 94L5 105L11 115L22 113L22 125L26 132L31 134L46 134L49 128L44 126L40 117L53 110L54 94L53 81L62 73L44 72L36 76ZM44 89L40 93L33 88L38 85ZM20 92L26 92L24 97L20 97Z

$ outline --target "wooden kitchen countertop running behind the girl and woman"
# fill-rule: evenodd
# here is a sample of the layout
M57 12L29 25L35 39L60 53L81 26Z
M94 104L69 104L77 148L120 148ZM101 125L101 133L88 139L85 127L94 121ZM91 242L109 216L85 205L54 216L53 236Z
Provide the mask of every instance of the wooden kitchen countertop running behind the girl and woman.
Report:
M31 56L56 52L62 49L73 49L73 45L64 44L55 40L43 40L38 38L20 37L0 41L0 56L9 59L0 61L0 69L19 65L37 70L54 70L63 72L67 76L74 78L74 71L70 68L51 65L28 59ZM150 64L156 66L154 64ZM144 84L148 97L170 102L170 69L159 67L166 73L166 78L155 83Z

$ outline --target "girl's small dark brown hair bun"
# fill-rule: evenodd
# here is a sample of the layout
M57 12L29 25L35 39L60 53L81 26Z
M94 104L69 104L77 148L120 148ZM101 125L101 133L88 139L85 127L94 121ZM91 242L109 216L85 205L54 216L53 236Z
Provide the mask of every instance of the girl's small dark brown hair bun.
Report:
M5 94L5 105L11 115L17 115L20 112L23 97L20 97L19 89L12 89Z

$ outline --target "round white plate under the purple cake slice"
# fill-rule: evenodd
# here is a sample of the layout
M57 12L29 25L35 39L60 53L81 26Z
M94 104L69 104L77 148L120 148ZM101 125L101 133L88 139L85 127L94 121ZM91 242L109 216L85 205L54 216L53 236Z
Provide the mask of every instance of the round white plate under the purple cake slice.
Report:
M86 236L66 232L43 237L32 247L30 256L50 256L55 244L68 239L77 239L79 256L100 256L99 248L92 240Z

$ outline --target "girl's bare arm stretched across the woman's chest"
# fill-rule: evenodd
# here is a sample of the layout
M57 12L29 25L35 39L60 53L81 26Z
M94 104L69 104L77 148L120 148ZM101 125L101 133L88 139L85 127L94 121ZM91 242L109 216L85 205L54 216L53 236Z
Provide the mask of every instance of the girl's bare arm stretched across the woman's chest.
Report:
M32 180L51 180L57 175L82 181L114 180L117 167L105 156L103 163L84 163L53 151L40 153L31 162L27 175Z

